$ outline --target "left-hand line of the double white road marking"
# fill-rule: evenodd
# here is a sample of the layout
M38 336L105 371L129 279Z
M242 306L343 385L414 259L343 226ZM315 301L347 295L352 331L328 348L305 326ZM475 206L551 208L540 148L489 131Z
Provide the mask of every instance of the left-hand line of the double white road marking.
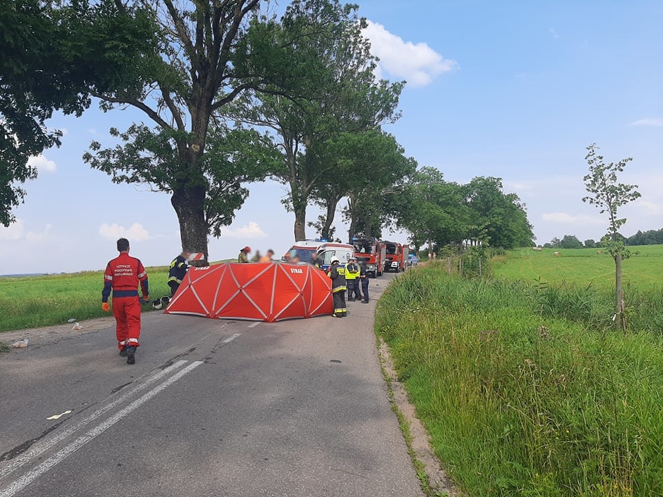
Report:
M94 421L95 419L99 418L99 416L102 416L102 414L107 413L113 407L117 406L118 404L121 404L126 400L127 398L133 396L134 393L137 393L143 389L146 389L149 387L151 384L161 380L164 378L164 376L168 376L170 373L173 372L175 369L179 369L182 367L184 364L186 364L186 360L179 360L175 362L174 364L171 364L169 367L163 369L159 373L156 373L154 376L151 376L147 380L145 380L143 383L137 384L134 389L128 390L124 392L121 396L113 400L113 402L104 405L102 407L99 407L96 411L94 411L90 416L87 418L80 420L77 422L75 425L71 425L67 429L64 429L62 431L59 431L55 436L52 438L49 438L48 440L44 440L44 442L40 442L37 445L33 445L30 450L26 451L23 453L21 456L12 459L11 462L9 462L8 465L3 466L0 468L0 479L4 478L8 474L10 474L12 471L15 471L16 469L19 469L19 467L23 466L26 464L26 462L29 462L31 459L39 456L39 454L42 454L43 452L47 451L51 447L54 447L57 445L59 442L67 438L68 436L71 436L73 433L76 431L79 431L79 429L85 427L86 425L90 424L90 422Z

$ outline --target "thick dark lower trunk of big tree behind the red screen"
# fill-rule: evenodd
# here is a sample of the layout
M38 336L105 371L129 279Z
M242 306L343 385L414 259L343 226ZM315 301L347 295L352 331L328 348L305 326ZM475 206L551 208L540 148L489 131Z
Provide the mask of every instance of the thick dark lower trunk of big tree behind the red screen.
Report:
M209 265L207 251L207 222L205 220L205 188L192 186L177 188L173 191L171 204L180 222L182 249L204 254L204 261L199 266Z

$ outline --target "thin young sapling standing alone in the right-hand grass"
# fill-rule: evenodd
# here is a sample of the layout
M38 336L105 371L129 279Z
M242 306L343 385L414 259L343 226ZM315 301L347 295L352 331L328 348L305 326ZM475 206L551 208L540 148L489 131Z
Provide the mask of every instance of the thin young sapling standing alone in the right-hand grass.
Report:
M588 196L583 202L596 206L599 213L608 216L608 235L602 240L602 245L615 260L615 327L626 330L624 319L624 289L622 288L622 260L628 258L630 253L624 244L624 237L619 233L619 228L626 223L625 217L619 217L619 207L640 197L635 184L619 183L618 175L624 172L624 168L633 158L627 157L619 162L604 162L603 156L597 153L599 147L591 144L587 147L585 160L588 164L588 174L584 182Z

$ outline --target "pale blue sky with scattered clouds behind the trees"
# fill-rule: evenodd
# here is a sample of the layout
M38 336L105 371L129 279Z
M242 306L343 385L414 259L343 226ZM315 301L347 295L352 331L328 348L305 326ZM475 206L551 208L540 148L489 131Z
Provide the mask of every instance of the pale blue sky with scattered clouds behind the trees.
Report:
M634 158L623 179L640 185L642 199L624 208L623 233L663 226L663 2L358 3L381 75L409 81L403 118L388 129L421 166L459 182L502 177L526 202L541 244L598 239L606 222L581 201L585 147L596 142L606 160ZM52 119L66 130L63 144L34 159L40 174L25 186L19 221L0 228L0 274L101 269L119 235L145 264L169 262L180 240L168 195L112 184L81 160L91 140L111 144L111 126L144 120L96 108ZM211 240L211 257L244 245L284 252L294 220L283 195L273 182L251 186L233 225Z

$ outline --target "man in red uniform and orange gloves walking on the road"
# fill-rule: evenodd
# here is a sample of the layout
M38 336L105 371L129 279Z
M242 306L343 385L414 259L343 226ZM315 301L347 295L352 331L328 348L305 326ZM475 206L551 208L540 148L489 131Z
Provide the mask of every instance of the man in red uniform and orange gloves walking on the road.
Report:
M127 364L135 364L136 347L140 337L140 300L138 285L140 284L143 300L149 300L147 273L142 262L129 255L129 241L126 238L117 240L119 255L108 262L104 273L104 290L102 291L102 309L109 312L108 296L113 291L113 315L115 316L115 333L119 355L126 357Z

